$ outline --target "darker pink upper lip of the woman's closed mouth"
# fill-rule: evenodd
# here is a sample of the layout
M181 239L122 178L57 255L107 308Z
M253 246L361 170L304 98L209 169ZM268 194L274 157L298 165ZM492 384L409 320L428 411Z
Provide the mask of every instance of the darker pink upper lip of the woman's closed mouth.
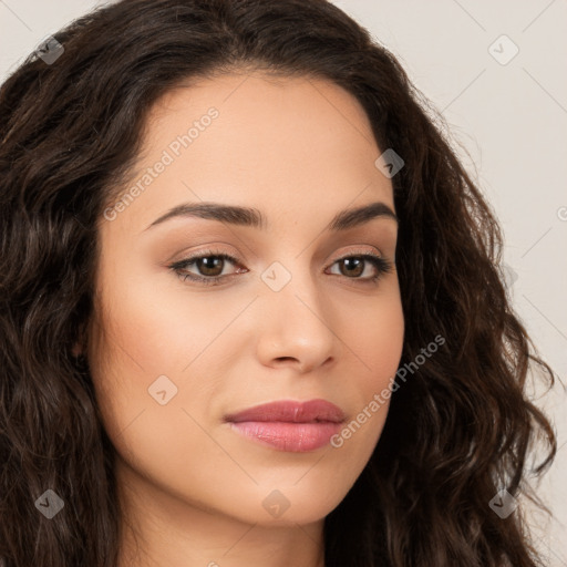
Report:
M227 415L226 421L280 421L289 423L317 423L344 421L342 410L327 400L309 400L296 402L281 400L278 402L255 405L238 413Z

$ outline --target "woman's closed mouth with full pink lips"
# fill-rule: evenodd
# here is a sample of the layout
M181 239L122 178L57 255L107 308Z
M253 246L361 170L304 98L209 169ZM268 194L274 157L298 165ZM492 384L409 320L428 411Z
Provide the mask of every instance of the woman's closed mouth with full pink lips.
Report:
M305 453L329 444L344 421L342 410L326 400L279 401L225 417L233 431L277 451Z

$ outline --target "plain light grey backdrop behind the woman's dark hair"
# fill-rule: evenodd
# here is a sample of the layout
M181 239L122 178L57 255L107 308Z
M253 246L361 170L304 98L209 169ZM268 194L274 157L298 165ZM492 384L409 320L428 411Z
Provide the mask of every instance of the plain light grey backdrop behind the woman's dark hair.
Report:
M104 2L0 0L0 82L45 37ZM443 112L462 159L494 206L515 309L544 359L566 382L567 4L565 0L334 0L401 61ZM506 64L501 35L519 50ZM492 52L504 61L507 40ZM499 53L498 53L499 52ZM460 147L460 146L461 147ZM530 514L551 567L567 566L567 416L558 384L537 404L559 437L539 485L554 520ZM561 483L563 481L563 483Z

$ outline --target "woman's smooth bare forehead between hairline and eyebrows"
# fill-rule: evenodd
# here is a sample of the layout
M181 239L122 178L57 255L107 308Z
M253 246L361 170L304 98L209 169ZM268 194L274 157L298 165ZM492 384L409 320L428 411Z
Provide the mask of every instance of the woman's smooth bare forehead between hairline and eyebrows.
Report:
M148 113L130 186L167 165L137 192L144 206L126 213L146 226L156 212L198 200L329 218L377 199L393 208L391 183L374 165L380 153L360 103L330 81L257 71L199 79Z

